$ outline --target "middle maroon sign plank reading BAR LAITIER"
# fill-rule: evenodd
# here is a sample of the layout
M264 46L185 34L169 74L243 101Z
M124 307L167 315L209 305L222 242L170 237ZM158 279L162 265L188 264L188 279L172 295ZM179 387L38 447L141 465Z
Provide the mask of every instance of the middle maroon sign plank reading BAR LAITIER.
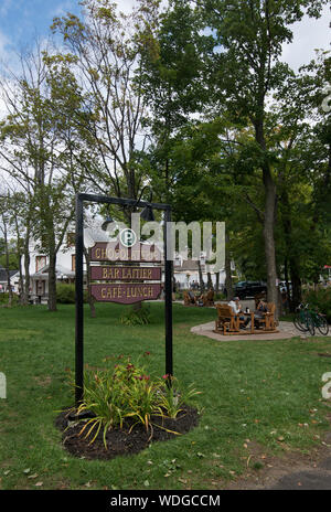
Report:
M159 281L161 267L120 267L120 266L90 266L92 280L131 281L135 279Z

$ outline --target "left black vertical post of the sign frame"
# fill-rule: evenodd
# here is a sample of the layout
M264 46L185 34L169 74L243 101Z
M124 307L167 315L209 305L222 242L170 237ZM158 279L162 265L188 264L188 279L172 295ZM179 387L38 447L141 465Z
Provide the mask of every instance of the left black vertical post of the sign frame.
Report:
M75 351L75 402L76 407L83 399L84 385L84 270L83 270L83 252L84 252L84 218L83 218L83 199L76 195L76 351Z

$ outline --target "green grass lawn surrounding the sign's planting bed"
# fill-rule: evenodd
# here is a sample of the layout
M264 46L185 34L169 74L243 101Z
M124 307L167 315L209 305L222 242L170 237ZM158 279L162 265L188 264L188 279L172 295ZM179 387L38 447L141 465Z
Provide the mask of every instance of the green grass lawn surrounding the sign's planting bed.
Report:
M149 351L153 373L164 373L163 305L151 324L124 327L125 306L97 305L85 313L85 363L134 359ZM321 376L331 371L331 338L218 342L190 333L214 319L213 309L173 306L174 375L202 392L200 425L184 436L110 461L77 459L61 445L57 412L74 402L75 310L60 306L0 310L0 489L215 489L245 471L247 439L281 456L309 450L330 428ZM215 487L216 486L216 487Z

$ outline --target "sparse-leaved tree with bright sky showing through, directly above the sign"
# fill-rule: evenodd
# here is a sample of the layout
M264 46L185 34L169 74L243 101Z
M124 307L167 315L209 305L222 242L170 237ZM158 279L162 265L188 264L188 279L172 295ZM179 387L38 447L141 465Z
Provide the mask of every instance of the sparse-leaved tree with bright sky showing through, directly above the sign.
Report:
M137 38L153 3L141 2L124 14L113 1L85 0L84 17L67 14L53 23L81 83L83 103L73 121L95 157L85 161L85 177L98 192L117 198L138 199L146 180L140 154L148 139ZM125 210L127 221L130 213Z

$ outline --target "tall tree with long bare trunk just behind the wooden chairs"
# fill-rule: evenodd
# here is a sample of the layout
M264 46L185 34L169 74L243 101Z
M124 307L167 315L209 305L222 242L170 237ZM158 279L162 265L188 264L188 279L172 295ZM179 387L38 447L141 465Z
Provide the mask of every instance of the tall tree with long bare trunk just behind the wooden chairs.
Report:
M281 46L292 39L290 25L305 11L318 18L323 0L196 0L206 26L215 34L214 74L211 85L221 111L235 122L254 127L257 162L265 192L264 242L267 263L268 299L278 303L275 220L277 188L274 158L266 137L267 99L281 85L287 67L281 64Z

